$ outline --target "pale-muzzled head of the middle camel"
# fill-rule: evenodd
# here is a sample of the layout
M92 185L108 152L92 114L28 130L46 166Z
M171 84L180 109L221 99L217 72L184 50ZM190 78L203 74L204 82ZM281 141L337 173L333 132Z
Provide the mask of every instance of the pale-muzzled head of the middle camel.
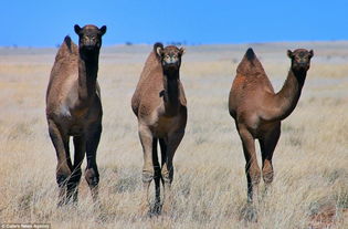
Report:
M161 43L156 43L154 50L159 59L164 71L166 70L179 70L181 65L181 56L184 53L183 48L177 48L175 45L169 45L164 48Z

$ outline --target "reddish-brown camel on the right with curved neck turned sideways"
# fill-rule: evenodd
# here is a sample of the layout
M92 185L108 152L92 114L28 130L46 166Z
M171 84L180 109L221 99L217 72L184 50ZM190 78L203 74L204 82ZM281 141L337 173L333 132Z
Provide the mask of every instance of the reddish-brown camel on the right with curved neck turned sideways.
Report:
M257 199L261 171L257 165L255 139L262 154L262 175L266 187L273 181L272 157L281 136L281 122L296 107L309 70L313 50L287 51L292 61L287 79L278 93L256 58L249 49L236 69L229 97L230 115L235 121L246 160L247 200ZM256 197L255 197L256 196Z

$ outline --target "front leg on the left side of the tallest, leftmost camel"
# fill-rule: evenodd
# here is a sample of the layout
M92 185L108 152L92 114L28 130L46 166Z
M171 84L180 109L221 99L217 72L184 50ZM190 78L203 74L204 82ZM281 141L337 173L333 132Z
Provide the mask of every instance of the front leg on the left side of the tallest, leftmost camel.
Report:
M63 135L56 124L49 119L49 133L53 146L56 152L57 165L56 165L56 183L59 185L59 206L65 202L66 181L72 174L72 165L68 155L68 136Z

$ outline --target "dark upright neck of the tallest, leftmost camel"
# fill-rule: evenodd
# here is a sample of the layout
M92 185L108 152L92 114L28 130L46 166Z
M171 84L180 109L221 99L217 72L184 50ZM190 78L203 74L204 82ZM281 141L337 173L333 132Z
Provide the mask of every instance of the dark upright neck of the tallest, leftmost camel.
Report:
M78 59L78 98L82 104L93 101L98 73L98 53L82 53Z

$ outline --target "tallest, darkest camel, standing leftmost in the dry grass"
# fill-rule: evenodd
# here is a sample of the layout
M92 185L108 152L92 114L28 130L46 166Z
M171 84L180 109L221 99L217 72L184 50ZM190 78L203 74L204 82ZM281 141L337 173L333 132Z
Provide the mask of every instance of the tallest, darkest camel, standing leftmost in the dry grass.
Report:
M88 24L80 28L75 24L74 30L78 35L78 48L68 35L65 37L55 56L46 91L46 119L57 157L59 206L77 202L85 153L85 178L93 199L97 200L98 196L96 150L102 134L103 110L97 72L106 27L98 29ZM74 142L74 164L68 148L70 136Z

